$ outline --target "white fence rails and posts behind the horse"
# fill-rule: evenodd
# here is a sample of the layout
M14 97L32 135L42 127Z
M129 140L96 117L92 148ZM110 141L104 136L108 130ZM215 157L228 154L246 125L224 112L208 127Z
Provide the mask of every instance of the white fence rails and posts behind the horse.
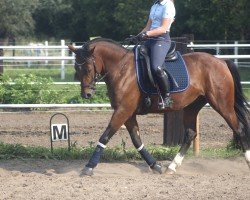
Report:
M235 42L234 44L193 44L187 45L188 48L196 49L215 49L216 57L224 59L234 59L238 62L238 59L250 59L250 55L238 55L239 48L250 48L250 44L239 44ZM130 46L132 48L132 46ZM220 49L234 49L233 55L219 55ZM29 45L29 46L0 46L3 50L44 50L45 56L2 56L0 60L3 61L60 61L61 66L61 79L65 78L65 61L74 60L74 56L68 55L68 47L65 45L65 41L61 40L61 45L49 46L48 42L44 45ZM49 56L49 50L59 50L59 55ZM79 83L55 83L55 84L79 84ZM242 82L242 84L250 84L250 82ZM100 108L100 107L110 107L110 104L2 104L0 108Z

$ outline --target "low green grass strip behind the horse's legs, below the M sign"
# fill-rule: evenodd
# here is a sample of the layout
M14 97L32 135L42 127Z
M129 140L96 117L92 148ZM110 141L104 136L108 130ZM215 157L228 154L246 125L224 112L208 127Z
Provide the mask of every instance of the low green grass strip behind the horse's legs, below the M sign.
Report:
M34 158L34 159L89 159L94 152L93 145L87 147L71 146L68 148L55 148L53 153L50 148L24 146L21 144L0 143L0 159L12 158ZM147 146L148 151L157 160L171 160L179 150L179 147ZM205 148L201 149L200 157L204 158L232 158L241 156L241 151L228 145L225 148ZM187 157L192 157L192 150L188 151ZM140 160L141 157L135 148L125 148L123 145L114 148L107 148L102 156L103 161L128 161Z

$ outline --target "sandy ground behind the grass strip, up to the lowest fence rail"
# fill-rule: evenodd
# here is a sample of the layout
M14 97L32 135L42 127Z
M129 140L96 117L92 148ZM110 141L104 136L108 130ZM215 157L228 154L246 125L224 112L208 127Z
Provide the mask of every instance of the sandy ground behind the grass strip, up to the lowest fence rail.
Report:
M2 112L0 113L0 141L50 147L50 118L60 111L51 112ZM111 118L111 111L63 111L69 119L71 142L89 145L98 141ZM200 135L202 147L226 146L232 138L232 131L212 109L205 108L200 114ZM138 116L140 134L144 144L163 143L163 115L149 114ZM65 123L61 116L52 120L53 124ZM126 129L121 128L108 143L116 146L125 141L133 146ZM55 143L65 145L66 143Z

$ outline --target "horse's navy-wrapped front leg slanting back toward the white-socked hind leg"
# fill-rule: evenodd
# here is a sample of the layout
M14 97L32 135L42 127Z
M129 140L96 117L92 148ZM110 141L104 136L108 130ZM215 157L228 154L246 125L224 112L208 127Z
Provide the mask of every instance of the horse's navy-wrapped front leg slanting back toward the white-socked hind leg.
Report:
M145 148L144 144L141 141L136 115L133 115L131 118L129 118L126 121L125 126L130 134L130 137L132 139L135 148L141 154L141 157L146 161L146 163L153 171L162 174L165 170L162 168L161 165L159 165L156 162L156 160L147 151L147 149Z

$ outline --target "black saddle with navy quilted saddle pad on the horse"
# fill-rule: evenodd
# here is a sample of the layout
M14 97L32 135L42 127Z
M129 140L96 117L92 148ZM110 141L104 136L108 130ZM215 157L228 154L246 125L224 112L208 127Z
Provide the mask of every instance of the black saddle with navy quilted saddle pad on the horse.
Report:
M181 92L189 86L189 75L186 64L180 54L176 51L176 43L172 42L166 55L163 69L168 74L170 93ZM155 79L151 72L150 57L148 49L144 45L134 48L137 81L141 90L150 95L157 94Z

